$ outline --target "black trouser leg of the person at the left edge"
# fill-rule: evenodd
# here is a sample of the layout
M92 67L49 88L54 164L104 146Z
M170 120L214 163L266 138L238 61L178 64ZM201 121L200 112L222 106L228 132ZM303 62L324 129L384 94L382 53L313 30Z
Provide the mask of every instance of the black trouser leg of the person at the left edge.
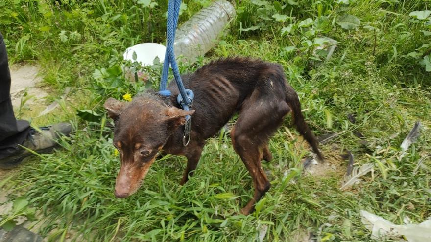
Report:
M14 154L30 132L30 124L16 120L10 99L10 71L6 45L0 33L0 159Z

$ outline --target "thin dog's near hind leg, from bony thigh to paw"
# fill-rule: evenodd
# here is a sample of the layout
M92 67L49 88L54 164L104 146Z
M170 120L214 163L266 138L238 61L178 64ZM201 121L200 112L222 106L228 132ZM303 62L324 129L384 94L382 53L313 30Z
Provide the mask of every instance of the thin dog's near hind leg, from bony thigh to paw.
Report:
M261 167L261 158L263 150L269 151L265 147L270 136L290 110L286 102L268 101L269 99L271 97L262 97L259 92L253 93L242 104L238 121L231 131L234 149L253 179L253 198L241 209L241 213L245 215L253 212L255 203L271 186Z

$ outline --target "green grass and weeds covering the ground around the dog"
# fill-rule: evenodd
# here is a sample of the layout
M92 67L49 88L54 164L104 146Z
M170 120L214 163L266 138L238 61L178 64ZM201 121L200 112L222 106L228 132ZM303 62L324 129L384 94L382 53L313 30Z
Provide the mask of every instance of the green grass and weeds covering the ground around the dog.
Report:
M430 20L409 16L428 9L425 0L351 0L349 5L279 1L281 7L269 1L236 1L238 17L230 34L196 64L182 64L181 72L232 54L280 63L312 130L317 135L339 133L321 146L328 170L315 177L302 172L301 160L309 151L293 129L285 128L287 119L270 141L274 160L263 164L272 187L250 216L238 212L252 195L251 178L227 134L208 141L185 186L178 184L185 158L166 156L152 166L135 195L115 198L119 158L101 103L109 96L120 99L157 87L160 65L145 69L146 85L125 81L119 68L125 47L164 42L166 1L157 2L152 9L133 0L1 3L7 6L0 13L0 27L11 62L35 60L54 96L68 86L74 93L61 113L34 118L33 123L68 119L77 131L61 142L61 150L33 158L3 186L10 190L10 201L23 196L36 209L38 219L32 224L42 225L37 232L50 241L66 235L88 241L256 241L266 225L264 241L298 241L298 233L310 231L322 242L365 242L372 240L360 222L360 210L397 224L407 216L419 223L431 215L430 158L413 173L431 151L431 74L423 63L431 51L431 38L424 34L431 31ZM180 22L210 1L185 2ZM275 13L287 20L277 22ZM358 17L360 25L340 27L337 17L345 14ZM308 18L313 24L298 27ZM291 32L283 34L289 24ZM253 26L258 29L247 31ZM338 46L329 61L315 67L312 62L322 56L313 48L322 36L337 40ZM75 115L84 109L102 118L89 122ZM24 110L22 117L31 114ZM348 114L356 115L356 124L348 121ZM416 120L424 127L421 136L399 160L398 147ZM356 131L365 136L366 147ZM356 165L373 162L376 167L361 183L340 191L346 161L339 155L346 150L355 155Z

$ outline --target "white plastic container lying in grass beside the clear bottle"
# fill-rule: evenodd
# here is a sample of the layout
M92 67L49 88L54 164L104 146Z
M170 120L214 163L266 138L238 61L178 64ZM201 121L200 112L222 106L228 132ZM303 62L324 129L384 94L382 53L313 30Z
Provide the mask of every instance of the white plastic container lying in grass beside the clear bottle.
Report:
M133 52L136 53L136 60L133 60ZM157 43L142 43L128 47L123 54L124 60L141 62L142 66L151 66L156 57L160 62L165 60L166 47Z

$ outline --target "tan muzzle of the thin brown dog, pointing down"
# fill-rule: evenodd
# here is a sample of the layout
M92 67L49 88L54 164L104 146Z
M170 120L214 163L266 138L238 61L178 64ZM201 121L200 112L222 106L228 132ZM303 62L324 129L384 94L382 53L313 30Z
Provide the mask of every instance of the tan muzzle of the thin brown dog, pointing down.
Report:
M127 198L136 193L155 159L156 157L144 165L135 164L137 162L122 163L115 181L115 197Z

